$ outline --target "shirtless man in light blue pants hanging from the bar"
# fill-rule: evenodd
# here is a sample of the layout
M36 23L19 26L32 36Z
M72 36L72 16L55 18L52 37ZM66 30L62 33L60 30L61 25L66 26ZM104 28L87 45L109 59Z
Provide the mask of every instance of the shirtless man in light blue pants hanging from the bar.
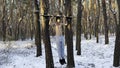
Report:
M63 36L63 30L62 30L62 25L61 23L61 17L57 16L56 17L56 24L55 24L55 29L56 29L56 44L58 48L58 56L59 56L59 62L61 65L66 64L65 61L65 55L64 55L64 36Z

